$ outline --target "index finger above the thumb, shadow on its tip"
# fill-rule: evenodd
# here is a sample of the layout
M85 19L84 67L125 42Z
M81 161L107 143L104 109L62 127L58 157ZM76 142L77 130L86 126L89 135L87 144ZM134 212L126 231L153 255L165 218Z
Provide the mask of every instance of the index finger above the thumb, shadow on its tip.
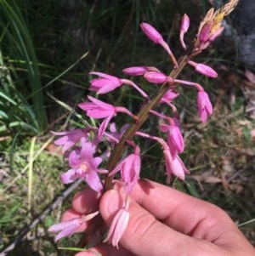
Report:
M139 180L131 196L156 219L189 236L212 241L215 236L205 237L214 233L212 229L238 230L221 208L148 179Z

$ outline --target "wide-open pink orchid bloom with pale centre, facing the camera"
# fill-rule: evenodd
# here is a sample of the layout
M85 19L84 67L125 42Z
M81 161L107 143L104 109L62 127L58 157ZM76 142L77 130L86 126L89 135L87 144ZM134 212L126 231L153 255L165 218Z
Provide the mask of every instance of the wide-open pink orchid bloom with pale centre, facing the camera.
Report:
M81 151L71 151L69 155L69 169L60 178L64 184L73 182L78 178L84 179L94 191L101 191L103 185L99 179L98 173L107 173L106 170L99 170L98 166L102 158L94 157L95 145L82 139Z

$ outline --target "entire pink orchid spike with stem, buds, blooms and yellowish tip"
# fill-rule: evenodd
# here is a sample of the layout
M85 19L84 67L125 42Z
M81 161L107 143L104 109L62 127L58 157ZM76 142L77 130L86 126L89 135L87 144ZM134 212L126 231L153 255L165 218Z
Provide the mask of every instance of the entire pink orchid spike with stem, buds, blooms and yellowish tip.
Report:
M221 21L224 15L229 14L235 8L236 3L236 0L230 1L215 13L213 9L209 10L205 19L201 22L194 43L189 48L184 43L184 34L189 29L190 19L187 14L184 14L181 20L179 40L185 53L178 61L160 32L156 31L156 28L150 24L141 23L140 26L144 34L153 43L159 44L166 50L173 62L173 71L167 75L154 66L139 65L127 67L122 72L127 76L141 76L147 82L158 84L159 89L156 94L150 97L130 79L115 77L99 71L91 71L89 74L96 77L90 81L90 91L100 95L110 93L124 85L130 86L144 99L144 104L139 113L134 115L124 106L111 105L93 96L88 96L88 101L78 104L78 107L85 112L87 117L98 119L100 122L99 128L91 126L77 128L72 131L53 132L54 135L59 136L59 139L55 140L55 144L63 146L62 152L68 158L70 165L70 169L60 175L60 179L64 184L69 184L76 179L84 179L92 190L102 195L104 191L111 189L114 183L118 183L122 185L126 192L126 201L119 212L116 213L104 242L111 242L113 246L118 247L118 242L128 224L128 195L139 181L141 168L141 150L133 140L135 136L156 140L161 145L162 156L164 156L166 163L167 182L170 182L172 174L182 180L185 178L185 174L189 174L179 156L184 151L184 138L180 128L178 110L173 103L174 99L179 96L176 90L178 84L190 86L197 90L197 109L201 122L206 122L207 117L212 115L212 104L201 84L179 80L177 77L185 65L192 66L201 75L207 77L218 76L217 72L211 67L196 63L191 59L207 48L219 36L223 31ZM156 106L162 104L170 107L173 112L172 117L156 111ZM116 123L112 122L112 119L121 113L131 117L131 123L122 126L118 132ZM140 130L145 120L151 115L160 119L159 130L163 134L167 134L166 137L163 136L161 138L155 134L146 134ZM105 140L108 141L110 146L106 152L100 155L98 148L100 143ZM123 156L123 152L127 147L127 151L132 153ZM105 165L104 162L106 162ZM114 175L117 173L120 173L121 179L119 181L114 179ZM102 179L105 179L104 183ZM55 237L57 241L64 236L70 236L79 229L84 221L88 221L88 219L92 219L98 214L99 212L90 213L81 218L71 219L70 221L53 225L48 230L59 233Z

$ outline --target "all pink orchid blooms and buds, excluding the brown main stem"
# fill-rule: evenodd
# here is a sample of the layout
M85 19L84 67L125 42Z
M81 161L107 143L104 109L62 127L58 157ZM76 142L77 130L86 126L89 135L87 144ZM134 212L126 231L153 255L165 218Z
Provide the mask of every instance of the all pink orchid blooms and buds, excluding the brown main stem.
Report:
M186 49L184 33L188 31L189 25L189 17L187 14L184 14L180 28L180 42L184 49ZM152 42L161 45L161 47L167 51L167 54L173 61L174 69L177 69L178 61L175 60L172 51L164 41L161 34L156 31L153 26L150 26L147 23L142 23L140 26L145 35L149 37ZM205 33L205 28L201 30L201 42L205 37L202 33ZM212 68L207 65L195 63L191 60L187 61L186 64L191 65L195 68L195 71L198 71L204 76L217 77L216 71L213 71ZM173 77L165 75L153 66L132 66L127 67L122 72L128 76L143 76L144 79L150 83L160 84L167 82L169 84L167 93L161 97L158 104L167 104L167 106L170 106L173 111L173 117L167 117L155 110L150 110L150 114L161 119L161 124L159 125L158 130L163 134L167 134L166 138L164 138L164 136L161 138L152 134L145 134L141 131L136 131L135 135L142 136L143 138L154 139L161 145L162 156L164 156L166 163L168 182L170 182L172 174L178 177L178 179L184 179L185 174L189 174L189 171L185 168L184 162L182 162L179 157L179 154L184 151L184 138L180 128L178 111L175 105L173 105L173 100L179 95L175 88L179 83L197 89L198 115L202 122L206 122L207 117L212 115L212 104L207 92L198 83L174 79ZM98 95L110 93L123 85L129 85L136 89L146 102L150 101L148 94L145 94L144 91L131 80L114 77L96 71L92 71L89 74L97 76L97 78L93 78L90 81L89 90ZM100 174L114 176L119 172L121 176L121 184L124 187L126 194L130 194L133 191L134 186L138 183L141 168L140 148L139 145L134 143L133 139L126 141L127 147L131 148L131 150L127 151L133 152L120 160L113 170L106 170L100 166L104 166L104 161L108 161L109 156L111 155L111 149L113 149L122 139L122 135L125 134L128 128L127 124L123 126L118 133L115 123L111 122L112 118L116 117L117 114L122 113L132 117L135 122L139 122L139 117L133 115L133 113L123 106L111 105L92 96L88 96L88 101L82 102L78 104L78 106L88 117L103 121L99 124L99 128L87 127L66 132L53 132L53 134L59 136L59 139L55 141L55 144L63 146L62 151L64 156L68 158L70 165L70 169L64 174L61 174L60 179L64 184L69 184L76 179L84 179L91 189L100 192L103 190L104 186ZM110 151L103 152L100 155L97 149L103 140L107 140L109 142L111 149ZM90 216L92 216L91 218L94 217L94 215ZM118 246L122 233L127 226L128 218L128 205L125 204L123 208L116 213L116 218L112 223L110 233L106 237L105 242L110 241L114 246ZM58 240L61 237L70 236L75 232L75 230L77 230L77 228L79 228L80 225L82 225L83 221L88 219L90 219L90 217L82 217L79 219L73 219L69 222L53 225L49 228L49 231L60 232L56 237L56 240Z

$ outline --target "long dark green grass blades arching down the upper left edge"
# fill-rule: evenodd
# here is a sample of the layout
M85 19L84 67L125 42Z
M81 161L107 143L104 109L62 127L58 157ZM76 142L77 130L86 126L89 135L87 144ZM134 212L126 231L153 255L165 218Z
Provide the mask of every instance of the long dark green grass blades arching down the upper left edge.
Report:
M30 33L27 29L26 22L23 19L20 9L14 0L0 1L0 14L3 20L0 26L6 28L3 40L12 46L9 54L14 54L14 59L25 60L28 72L28 81L31 89L31 100L33 103L33 111L37 120L37 129L42 131L47 126L47 116L44 109L42 82L39 76L39 68L37 65L37 56Z

